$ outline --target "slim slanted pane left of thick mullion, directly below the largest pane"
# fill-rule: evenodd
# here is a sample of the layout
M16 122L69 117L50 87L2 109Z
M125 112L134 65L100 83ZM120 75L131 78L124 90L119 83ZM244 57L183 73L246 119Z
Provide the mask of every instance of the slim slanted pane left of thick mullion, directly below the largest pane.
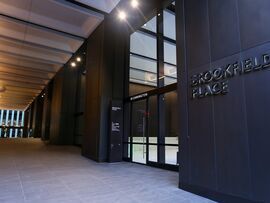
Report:
M157 62L155 60L130 54L130 67L157 73Z

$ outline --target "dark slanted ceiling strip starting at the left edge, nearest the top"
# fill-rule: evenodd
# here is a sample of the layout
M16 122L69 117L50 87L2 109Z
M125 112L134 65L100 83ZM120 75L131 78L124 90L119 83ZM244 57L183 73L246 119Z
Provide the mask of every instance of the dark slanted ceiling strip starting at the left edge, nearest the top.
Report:
M25 24L25 25L31 25L33 27L37 27L37 28L40 28L40 29L55 32L57 34L60 34L60 35L63 35L63 36L69 37L69 38L73 38L73 39L76 39L76 40L80 40L80 41L85 40L85 38L83 38L81 36L74 35L74 34L64 32L64 31L61 31L61 30L57 30L57 29L54 29L54 28L50 28L50 27L47 27L47 26L44 26L44 25L39 25L39 24L36 24L36 23L32 23L32 22L29 22L29 21L26 21L26 20L22 20L22 19L13 17L13 16L5 15L5 14L0 14L0 16L2 16L4 18L7 18L7 19L10 19L10 20L13 20L13 21L16 21L16 22L20 22L20 23Z

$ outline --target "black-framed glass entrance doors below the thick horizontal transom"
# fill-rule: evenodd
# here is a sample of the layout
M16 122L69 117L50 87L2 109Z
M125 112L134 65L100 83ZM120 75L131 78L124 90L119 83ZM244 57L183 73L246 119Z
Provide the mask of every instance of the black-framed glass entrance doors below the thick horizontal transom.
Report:
M123 159L178 170L178 101L176 86L130 97L125 103Z

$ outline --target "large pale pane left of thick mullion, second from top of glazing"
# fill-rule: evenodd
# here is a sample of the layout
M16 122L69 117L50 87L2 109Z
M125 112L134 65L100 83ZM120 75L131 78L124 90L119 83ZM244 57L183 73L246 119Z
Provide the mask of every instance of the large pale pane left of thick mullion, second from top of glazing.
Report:
M130 36L130 52L156 59L156 38L142 32L134 32Z

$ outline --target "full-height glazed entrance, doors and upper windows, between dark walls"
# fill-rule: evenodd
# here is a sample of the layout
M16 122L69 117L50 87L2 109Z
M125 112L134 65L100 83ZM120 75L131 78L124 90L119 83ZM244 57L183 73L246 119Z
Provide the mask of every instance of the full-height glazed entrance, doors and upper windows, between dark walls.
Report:
M124 159L178 170L174 3L130 36Z

